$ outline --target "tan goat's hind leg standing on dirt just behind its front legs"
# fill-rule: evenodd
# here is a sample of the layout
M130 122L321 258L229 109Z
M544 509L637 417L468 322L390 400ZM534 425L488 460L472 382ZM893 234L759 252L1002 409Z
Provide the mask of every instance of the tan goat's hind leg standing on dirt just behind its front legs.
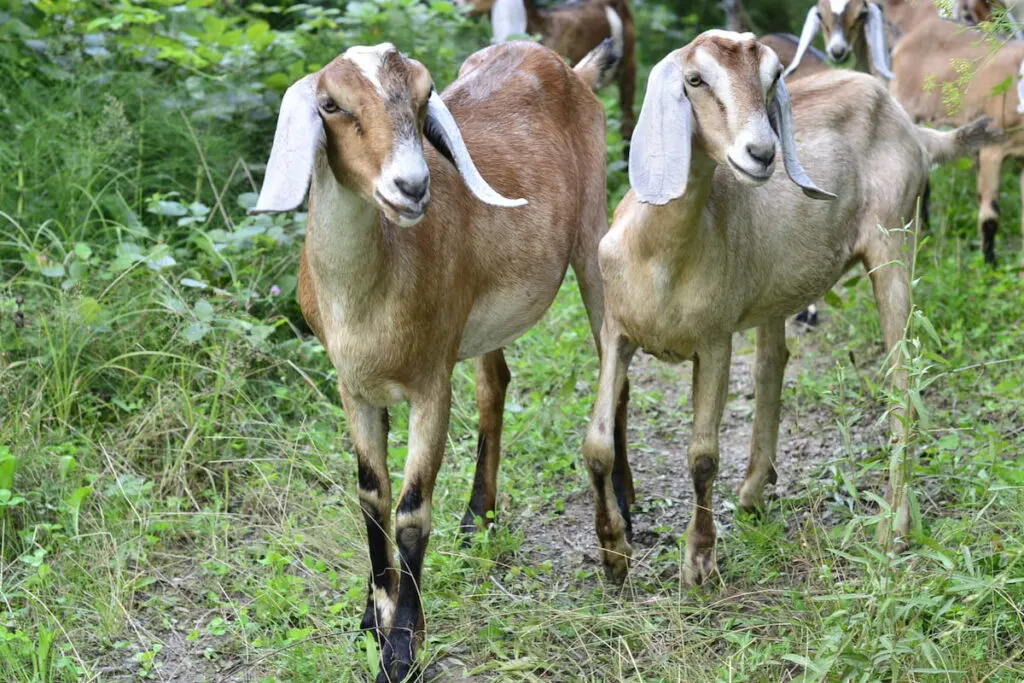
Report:
M785 319L758 328L754 367L754 438L746 476L739 487L739 507L748 512L764 504L765 483L775 483L775 451L782 405L782 378L790 351L785 347Z

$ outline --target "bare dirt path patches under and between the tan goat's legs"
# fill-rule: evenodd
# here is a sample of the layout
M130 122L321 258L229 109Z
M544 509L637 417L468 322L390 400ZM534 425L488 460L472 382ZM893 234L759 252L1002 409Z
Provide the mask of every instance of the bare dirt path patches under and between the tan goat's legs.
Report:
M820 343L814 336L790 331L794 353L785 373L785 386L796 383L803 368L826 373L829 359L814 352ZM799 343L794 343L801 337ZM741 335L733 341L729 399L722 421L721 461L715 484L715 508L720 538L733 527L736 492L746 471L754 421L754 346ZM633 506L634 571L642 575L643 558L658 547L675 545L685 533L692 505L692 486L686 469L686 447L692 423L690 405L691 366L669 366L638 354L630 369L632 401L629 414L629 455L637 500ZM651 395L662 394L660 400ZM778 443L778 483L766 488L766 497L798 496L811 477L828 476L822 465L845 458L842 437L833 411L823 402L800 411L783 395L782 424ZM882 443L877 420L861 420L851 429L855 453ZM517 561L549 560L569 571L598 566L594 536L592 498L589 487L578 486L565 497L564 512L553 506L534 511ZM538 514L539 513L539 514ZM517 520L518 521L518 520ZM798 523L799 518L785 520ZM525 523L525 522L523 522Z

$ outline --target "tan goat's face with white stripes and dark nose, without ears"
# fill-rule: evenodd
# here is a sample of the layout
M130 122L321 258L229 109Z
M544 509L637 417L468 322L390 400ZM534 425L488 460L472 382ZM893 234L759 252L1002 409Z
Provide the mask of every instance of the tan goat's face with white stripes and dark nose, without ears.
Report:
M708 32L679 51L678 63L706 154L741 182L767 182L775 133L766 103L782 74L778 57L752 34Z

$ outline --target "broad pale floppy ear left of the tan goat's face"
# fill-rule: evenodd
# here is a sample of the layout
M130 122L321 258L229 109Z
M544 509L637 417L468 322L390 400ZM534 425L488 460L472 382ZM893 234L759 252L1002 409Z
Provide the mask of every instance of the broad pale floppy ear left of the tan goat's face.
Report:
M670 54L650 72L630 143L630 184L637 200L662 206L683 196L693 127L683 72Z

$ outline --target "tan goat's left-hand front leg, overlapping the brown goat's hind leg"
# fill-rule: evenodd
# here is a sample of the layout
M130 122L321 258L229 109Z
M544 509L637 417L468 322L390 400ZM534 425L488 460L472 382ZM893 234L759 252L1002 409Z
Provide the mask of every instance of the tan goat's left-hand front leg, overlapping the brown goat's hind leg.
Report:
M633 554L630 503L633 477L626 456L626 374L636 346L604 322L597 399L583 443L584 461L594 489L594 524L604 572L622 581Z

